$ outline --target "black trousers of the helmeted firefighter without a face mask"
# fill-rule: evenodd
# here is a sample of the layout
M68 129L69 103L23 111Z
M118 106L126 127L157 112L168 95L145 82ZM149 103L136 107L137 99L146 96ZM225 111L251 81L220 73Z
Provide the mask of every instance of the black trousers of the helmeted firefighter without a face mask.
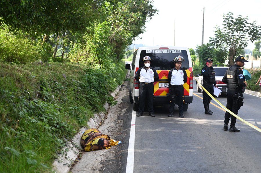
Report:
M183 98L184 98L184 87L183 85L171 85L171 95L175 95L175 101L169 103L169 112L173 113L175 103L179 105L179 114L183 114Z

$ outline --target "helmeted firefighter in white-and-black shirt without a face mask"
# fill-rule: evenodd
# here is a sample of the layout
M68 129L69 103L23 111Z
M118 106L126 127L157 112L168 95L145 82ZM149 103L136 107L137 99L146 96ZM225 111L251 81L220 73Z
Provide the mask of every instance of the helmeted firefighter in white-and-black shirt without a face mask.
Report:
M170 94L171 101L169 105L169 115L168 117L173 117L173 111L175 103L179 105L179 114L181 118L183 115L183 103L184 103L184 87L183 84L187 82L187 73L181 68L181 64L184 62L182 56L175 57L172 61L175 67L168 72L168 82L170 83Z

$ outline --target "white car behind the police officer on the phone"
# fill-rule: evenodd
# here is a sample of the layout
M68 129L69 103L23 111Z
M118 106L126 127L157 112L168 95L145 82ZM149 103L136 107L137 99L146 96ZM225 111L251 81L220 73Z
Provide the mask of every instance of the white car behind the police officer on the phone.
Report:
M213 66L213 68L215 70L217 86L222 91L222 94L223 93L225 94L227 91L227 84L223 83L222 79L223 79L223 76L225 75L225 72L228 69L228 67L227 66L225 66L225 67L224 66ZM198 76L197 81L201 85L203 85L203 76L201 74L198 74L197 76ZM197 92L201 92L202 88L200 87L200 85L198 85L197 82L196 82L196 84L197 84Z

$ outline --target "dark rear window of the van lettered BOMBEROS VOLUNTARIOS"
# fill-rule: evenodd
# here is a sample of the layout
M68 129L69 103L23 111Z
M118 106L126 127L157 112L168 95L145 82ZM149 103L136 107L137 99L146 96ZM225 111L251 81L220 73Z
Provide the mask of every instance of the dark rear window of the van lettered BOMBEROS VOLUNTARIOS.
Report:
M139 67L142 67L142 59L144 56L151 57L151 67L155 70L170 70L174 67L171 61L177 57L182 56L184 62L182 62L182 68L184 70L189 69L189 58L186 50L170 50L170 49L159 49L159 50L143 50L140 53Z

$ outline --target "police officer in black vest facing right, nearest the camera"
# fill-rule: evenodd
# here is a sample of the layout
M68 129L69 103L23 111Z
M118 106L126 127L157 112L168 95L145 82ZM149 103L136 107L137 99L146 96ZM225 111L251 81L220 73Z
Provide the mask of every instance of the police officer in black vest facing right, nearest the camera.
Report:
M235 59L235 64L226 70L226 73L222 79L222 82L227 83L226 92L226 108L238 115L238 110L243 105L243 91L247 86L247 82L244 79L243 70L241 67L244 66L245 60L243 56L238 56ZM231 116L229 112L225 113L224 130L228 130L229 119L231 118L229 131L239 132L240 129L235 127L237 118Z

